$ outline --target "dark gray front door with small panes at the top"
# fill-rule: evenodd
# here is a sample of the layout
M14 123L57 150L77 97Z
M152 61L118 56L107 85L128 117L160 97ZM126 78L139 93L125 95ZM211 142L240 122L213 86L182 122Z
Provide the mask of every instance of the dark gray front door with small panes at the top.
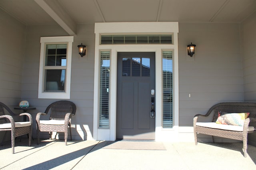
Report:
M155 139L154 89L155 53L118 53L117 139Z

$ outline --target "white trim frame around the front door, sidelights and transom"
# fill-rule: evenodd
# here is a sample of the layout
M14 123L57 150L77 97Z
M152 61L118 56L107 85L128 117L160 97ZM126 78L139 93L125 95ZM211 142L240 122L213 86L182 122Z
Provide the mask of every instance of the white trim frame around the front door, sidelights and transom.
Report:
M162 82L162 51L173 50L174 63L174 127L162 129L162 83L156 83L156 141L177 139L178 134L178 22L126 22L126 23L95 23L95 63L94 63L94 125L95 140L114 141L116 139L116 89L117 89L117 53L118 52L155 52L156 53L156 82ZM174 43L146 45L100 45L101 33L173 33ZM99 66L100 50L110 51L110 128L98 128L99 115ZM161 76L158 76L161 75Z

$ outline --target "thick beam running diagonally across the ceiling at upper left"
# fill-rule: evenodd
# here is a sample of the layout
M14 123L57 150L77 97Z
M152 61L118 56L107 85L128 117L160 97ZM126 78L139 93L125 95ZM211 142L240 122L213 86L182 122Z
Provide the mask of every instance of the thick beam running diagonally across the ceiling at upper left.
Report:
M50 5L44 0L34 0L52 19L54 19L69 35L76 35L76 23L70 16L62 9L57 1L52 2ZM55 9L55 10L52 10Z

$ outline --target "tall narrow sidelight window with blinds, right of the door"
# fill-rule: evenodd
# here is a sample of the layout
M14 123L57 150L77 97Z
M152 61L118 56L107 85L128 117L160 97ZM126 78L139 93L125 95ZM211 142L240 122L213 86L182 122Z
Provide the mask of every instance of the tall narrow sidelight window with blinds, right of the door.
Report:
M163 128L172 128L173 126L173 69L172 69L172 51L162 52L162 71L163 71Z

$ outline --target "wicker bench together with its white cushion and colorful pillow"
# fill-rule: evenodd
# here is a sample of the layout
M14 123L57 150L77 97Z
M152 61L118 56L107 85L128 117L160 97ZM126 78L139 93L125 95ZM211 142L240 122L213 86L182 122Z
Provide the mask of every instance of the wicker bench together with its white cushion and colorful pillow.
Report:
M211 121L199 122L198 118L209 117ZM194 137L197 145L197 134L224 137L243 141L244 157L247 154L248 133L255 133L256 103L224 102L212 106L205 115L194 116Z

